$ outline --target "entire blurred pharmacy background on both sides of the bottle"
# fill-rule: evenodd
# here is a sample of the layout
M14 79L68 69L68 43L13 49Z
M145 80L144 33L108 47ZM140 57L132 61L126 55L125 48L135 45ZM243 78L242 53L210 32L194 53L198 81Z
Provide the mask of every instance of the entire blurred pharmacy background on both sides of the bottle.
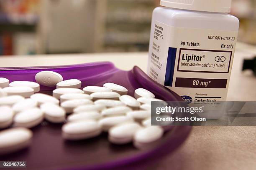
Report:
M147 51L159 0L0 0L0 55ZM256 45L256 1L233 0L238 41Z

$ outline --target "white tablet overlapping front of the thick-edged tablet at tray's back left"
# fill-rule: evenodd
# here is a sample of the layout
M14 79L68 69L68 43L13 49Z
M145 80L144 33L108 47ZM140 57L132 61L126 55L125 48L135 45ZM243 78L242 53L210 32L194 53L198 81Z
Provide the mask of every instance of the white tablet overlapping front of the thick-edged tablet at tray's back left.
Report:
M30 97L34 94L34 89L31 87L5 87L3 91L7 95L21 95L23 97Z

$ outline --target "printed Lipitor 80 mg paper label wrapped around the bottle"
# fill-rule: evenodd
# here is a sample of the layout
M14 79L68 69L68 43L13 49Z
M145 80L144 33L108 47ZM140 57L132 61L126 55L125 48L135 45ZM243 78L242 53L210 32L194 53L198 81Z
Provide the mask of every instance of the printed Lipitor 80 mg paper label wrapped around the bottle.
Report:
M154 23L148 75L184 99L225 100L237 31Z

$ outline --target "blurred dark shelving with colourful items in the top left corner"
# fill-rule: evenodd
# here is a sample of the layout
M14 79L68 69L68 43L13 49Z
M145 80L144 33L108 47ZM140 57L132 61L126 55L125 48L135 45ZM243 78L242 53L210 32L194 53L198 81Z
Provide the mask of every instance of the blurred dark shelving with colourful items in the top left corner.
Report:
M40 0L0 0L0 55L36 54Z

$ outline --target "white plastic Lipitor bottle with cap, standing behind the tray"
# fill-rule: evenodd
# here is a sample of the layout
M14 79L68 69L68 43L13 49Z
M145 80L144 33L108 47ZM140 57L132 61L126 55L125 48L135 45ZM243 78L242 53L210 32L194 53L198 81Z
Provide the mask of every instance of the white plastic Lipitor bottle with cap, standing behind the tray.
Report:
M187 102L226 100L239 20L231 0L161 0L152 16L148 75Z

